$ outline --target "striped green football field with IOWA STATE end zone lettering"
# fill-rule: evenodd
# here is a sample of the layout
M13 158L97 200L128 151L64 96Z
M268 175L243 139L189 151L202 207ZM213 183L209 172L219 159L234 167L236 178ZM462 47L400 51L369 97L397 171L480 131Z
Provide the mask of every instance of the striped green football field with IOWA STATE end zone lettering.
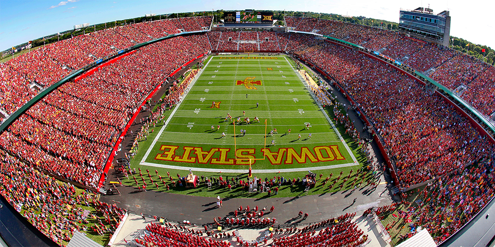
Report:
M141 165L225 172L247 170L250 162L256 172L358 165L286 57L207 61ZM228 114L232 120L225 121ZM242 123L234 124L238 118ZM278 133L271 135L275 128Z

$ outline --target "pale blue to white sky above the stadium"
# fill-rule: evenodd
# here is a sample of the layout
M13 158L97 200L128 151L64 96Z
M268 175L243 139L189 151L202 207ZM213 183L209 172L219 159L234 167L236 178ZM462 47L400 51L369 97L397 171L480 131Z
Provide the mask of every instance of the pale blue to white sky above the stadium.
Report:
M177 4L178 3L178 4ZM495 48L492 0L2 0L0 50L73 29L145 14L224 10L287 10L366 16L398 22L399 10L449 10L450 35Z

